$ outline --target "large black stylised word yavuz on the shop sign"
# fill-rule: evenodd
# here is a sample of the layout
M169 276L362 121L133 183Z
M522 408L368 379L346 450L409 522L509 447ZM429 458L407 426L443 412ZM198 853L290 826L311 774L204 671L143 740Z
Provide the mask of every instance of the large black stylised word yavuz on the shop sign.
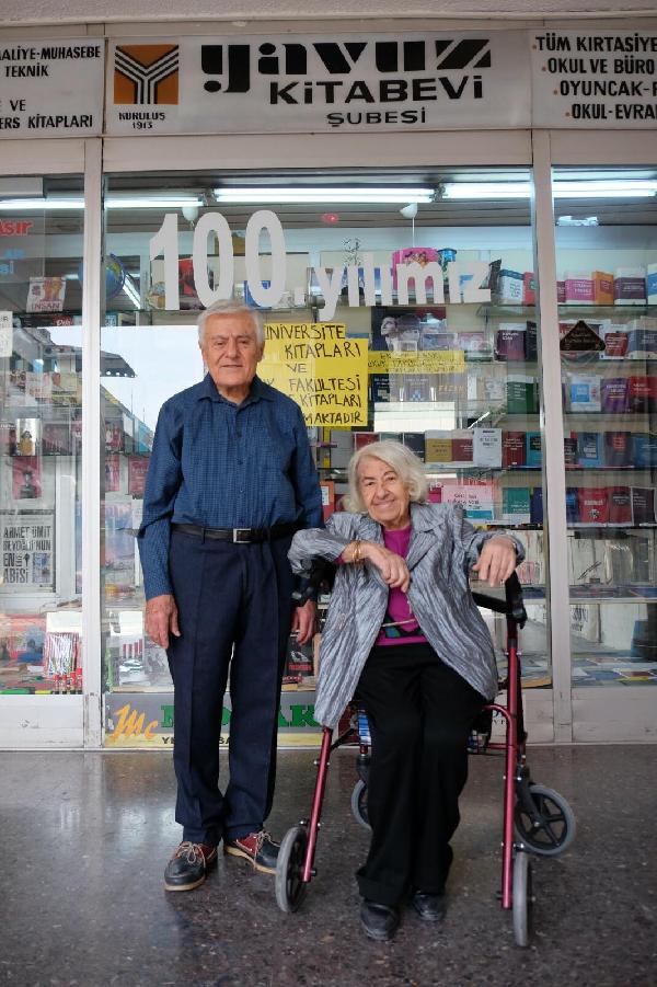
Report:
M491 39L264 42L257 47L201 45L200 67L207 92L249 92L252 76L257 74L269 79L273 96L281 97L270 102L312 103L315 102L313 89L319 88L323 102L333 103L341 93L339 87L346 82L355 82L365 89L376 88L377 83L383 87L390 83L394 88L395 81L397 87L401 82L408 84L406 77L413 78L416 73L426 73L425 79L418 81L427 85L438 76L447 79L448 87L453 89L453 79L442 73L491 68ZM358 79L364 74L367 82ZM401 79L391 79L395 74ZM322 78L326 76L327 79ZM343 82L336 79L341 76L348 78ZM277 77L276 80L273 77ZM358 99L368 101L366 94ZM399 95L392 101L400 102Z

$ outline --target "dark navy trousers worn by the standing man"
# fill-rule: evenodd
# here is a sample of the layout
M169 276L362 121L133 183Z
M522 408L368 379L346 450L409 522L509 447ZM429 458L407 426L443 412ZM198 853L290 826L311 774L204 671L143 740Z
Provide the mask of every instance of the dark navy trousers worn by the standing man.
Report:
M175 818L183 839L216 846L261 829L272 808L280 681L291 619L291 537L232 544L172 531L181 638L171 639ZM230 668L229 771L219 741Z

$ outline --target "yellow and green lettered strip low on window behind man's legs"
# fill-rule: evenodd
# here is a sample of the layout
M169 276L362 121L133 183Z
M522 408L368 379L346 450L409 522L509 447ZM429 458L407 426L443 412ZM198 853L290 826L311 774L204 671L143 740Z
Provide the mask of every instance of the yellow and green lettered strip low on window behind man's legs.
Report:
M220 746L230 743L230 697L223 700ZM313 718L314 692L281 692L278 743L281 747L315 746L320 726ZM173 746L173 692L108 692L105 696L106 747Z

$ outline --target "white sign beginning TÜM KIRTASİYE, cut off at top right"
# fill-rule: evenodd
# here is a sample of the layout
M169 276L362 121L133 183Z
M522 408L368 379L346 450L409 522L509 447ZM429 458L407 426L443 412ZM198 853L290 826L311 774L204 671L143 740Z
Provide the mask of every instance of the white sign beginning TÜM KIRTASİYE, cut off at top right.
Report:
M532 36L534 127L657 124L657 34L544 31Z

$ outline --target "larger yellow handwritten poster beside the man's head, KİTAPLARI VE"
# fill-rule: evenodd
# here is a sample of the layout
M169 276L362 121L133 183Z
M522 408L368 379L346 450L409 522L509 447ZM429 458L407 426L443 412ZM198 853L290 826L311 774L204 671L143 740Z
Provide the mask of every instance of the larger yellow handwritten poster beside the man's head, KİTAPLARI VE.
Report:
M367 425L367 340L338 322L265 325L258 377L292 398L307 425Z

